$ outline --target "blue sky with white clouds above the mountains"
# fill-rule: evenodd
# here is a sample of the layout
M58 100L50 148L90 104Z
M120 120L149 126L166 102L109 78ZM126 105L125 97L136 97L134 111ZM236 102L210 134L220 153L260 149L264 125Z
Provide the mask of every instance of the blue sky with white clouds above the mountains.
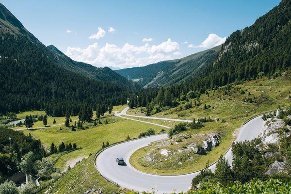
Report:
M280 0L0 0L44 45L113 69L218 46Z

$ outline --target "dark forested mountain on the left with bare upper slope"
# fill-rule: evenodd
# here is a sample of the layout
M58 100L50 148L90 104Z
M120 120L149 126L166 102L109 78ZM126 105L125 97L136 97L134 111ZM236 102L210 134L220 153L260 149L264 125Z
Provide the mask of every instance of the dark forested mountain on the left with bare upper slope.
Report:
M45 109L76 115L83 104L125 104L135 87L110 68L75 62L47 48L2 4L0 69L0 113Z

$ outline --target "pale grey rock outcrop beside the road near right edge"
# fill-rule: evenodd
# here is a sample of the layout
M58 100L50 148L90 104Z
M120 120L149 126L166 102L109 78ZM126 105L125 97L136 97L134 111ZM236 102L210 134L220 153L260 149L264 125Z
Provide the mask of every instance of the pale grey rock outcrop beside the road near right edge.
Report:
M282 129L284 126L285 123L282 119L268 118L261 134L262 143L264 145L278 145L280 143L280 129Z

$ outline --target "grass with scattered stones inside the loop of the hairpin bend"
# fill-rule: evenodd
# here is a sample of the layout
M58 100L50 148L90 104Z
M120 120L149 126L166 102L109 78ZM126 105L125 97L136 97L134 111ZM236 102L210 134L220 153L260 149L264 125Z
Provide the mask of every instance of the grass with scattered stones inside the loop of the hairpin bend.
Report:
M224 154L226 152L232 141L235 139L235 136L233 136L233 132L236 129L236 126L240 125L241 121L242 120L237 121L236 124L230 122L204 123L205 126L201 129L188 129L187 131L181 133L184 135L191 134L193 138L185 140L182 138L182 143L165 146L163 146L163 144L161 144L160 142L155 142L150 146L146 146L135 151L131 155L129 162L134 168L138 170L159 175L177 175L200 170L205 167L208 161L210 163L215 162L221 154ZM222 138L220 139L220 145L214 147L210 152L207 152L207 155L190 154L186 156L185 153L177 152L183 146L205 140L206 134L213 132L220 133ZM179 134L178 136L180 136L181 134ZM179 138L176 137L175 141L177 139ZM146 154L151 152L153 149L157 149L157 151L153 151L153 153L151 153L151 156L161 159L161 162L148 162L145 160ZM172 152L176 152L177 154L175 154L175 156L173 156L172 158L164 157L159 153L161 149L167 149ZM190 159L190 157L192 158ZM181 160L182 164L174 162L176 160Z

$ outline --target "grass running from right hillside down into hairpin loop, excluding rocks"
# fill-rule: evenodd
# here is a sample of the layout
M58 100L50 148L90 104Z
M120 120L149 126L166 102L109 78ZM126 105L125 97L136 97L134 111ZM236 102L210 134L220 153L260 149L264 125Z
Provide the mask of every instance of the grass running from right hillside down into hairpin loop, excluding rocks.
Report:
M210 163L215 162L221 154L226 152L232 140L235 139L235 129L238 129L242 122L254 114L269 111L278 106L284 107L289 105L291 103L290 96L291 77L289 74L288 76L270 80L260 79L256 81L246 81L243 84L234 85L229 89L223 87L219 90L209 91L209 95L201 95L200 103L198 103L197 99L192 99L193 104L196 100L196 103L200 105L194 106L188 110L183 108L186 101L181 101L178 107L152 116L179 119L195 118L196 120L198 118L210 116L213 119L219 118L220 121L224 120L225 123L210 122L206 123L205 126L199 130L187 130L183 132L191 134L193 137L195 137L195 134L220 132L223 134L220 145L208 152L207 155L189 155L188 159L192 156L191 160L186 160L187 157L185 159L185 156L179 155L180 159L178 158L178 161L183 159L183 162L181 165L177 165L177 157L172 159L168 157L167 160L162 160L160 162L146 161L145 156L150 151L152 151L151 157L156 156L158 153L157 151L153 151L153 149L155 149L159 143L154 143L134 152L130 158L130 163L139 170L153 174L181 174L199 170L205 167L207 161ZM252 103L244 100L248 97L252 98ZM207 106L209 105L209 108L204 109L204 104L207 104ZM141 109L139 108L129 110L128 114L142 115L143 113L141 113ZM153 122L159 122L159 120ZM193 138L193 141L198 140ZM175 152L181 149L182 146L183 144L180 146L159 146L159 149L167 149ZM162 154L158 154L158 156L163 158ZM171 160L176 160L176 163Z

